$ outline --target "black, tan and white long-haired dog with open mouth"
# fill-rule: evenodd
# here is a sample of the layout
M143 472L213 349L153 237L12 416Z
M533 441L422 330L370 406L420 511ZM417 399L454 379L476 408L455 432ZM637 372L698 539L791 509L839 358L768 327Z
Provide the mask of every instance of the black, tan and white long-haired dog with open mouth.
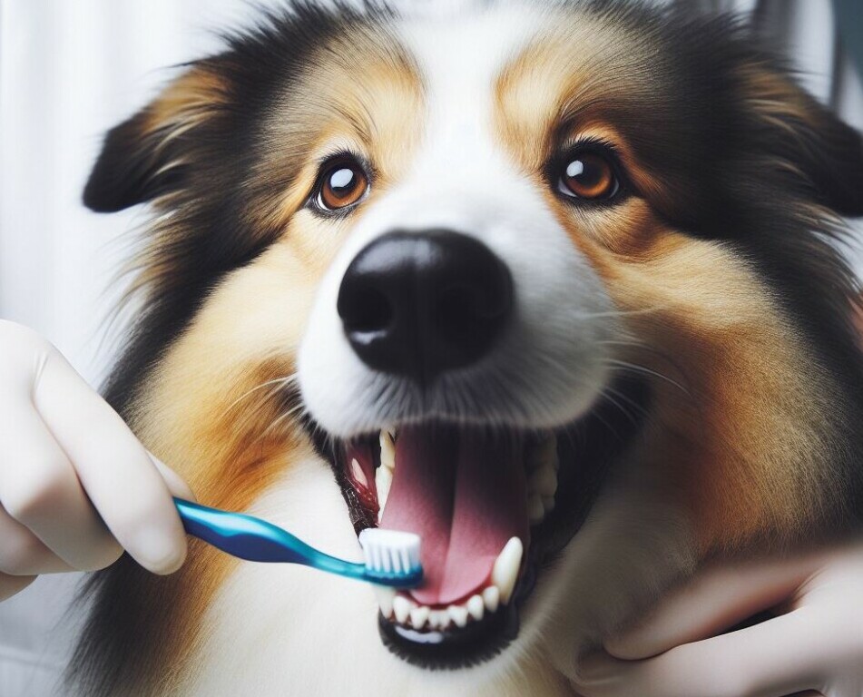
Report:
M701 564L859 530L836 250L863 146L728 16L299 3L107 134L149 203L106 396L201 503L398 594L191 542L95 574L93 695L569 695Z

